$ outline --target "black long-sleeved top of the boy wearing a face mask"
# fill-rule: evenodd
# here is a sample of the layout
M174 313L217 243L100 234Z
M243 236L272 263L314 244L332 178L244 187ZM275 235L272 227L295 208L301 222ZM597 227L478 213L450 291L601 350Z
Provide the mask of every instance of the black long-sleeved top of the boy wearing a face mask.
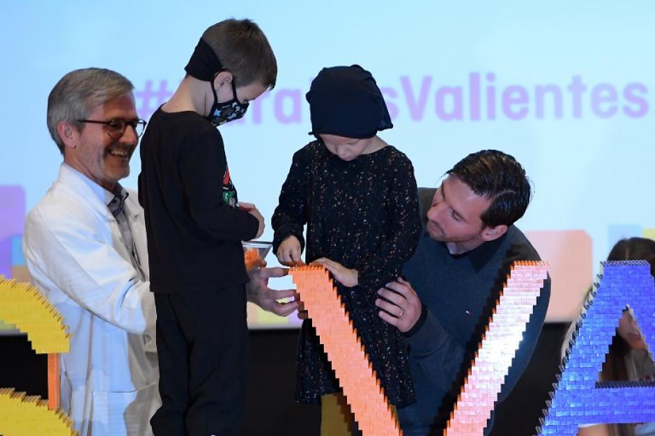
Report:
M248 281L241 241L254 238L259 223L238 209L223 139L202 116L161 108L153 114L141 139L139 202L153 292Z

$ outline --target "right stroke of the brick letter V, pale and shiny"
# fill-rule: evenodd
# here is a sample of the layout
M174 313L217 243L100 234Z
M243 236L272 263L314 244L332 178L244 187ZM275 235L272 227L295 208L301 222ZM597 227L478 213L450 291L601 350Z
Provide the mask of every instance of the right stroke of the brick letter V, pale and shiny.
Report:
M512 265L447 423L446 436L483 435L547 276L544 262Z

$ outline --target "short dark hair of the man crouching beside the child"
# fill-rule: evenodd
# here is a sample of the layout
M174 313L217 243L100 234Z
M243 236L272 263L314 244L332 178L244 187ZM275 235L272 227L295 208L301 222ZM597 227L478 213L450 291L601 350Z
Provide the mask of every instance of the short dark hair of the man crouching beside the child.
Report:
M510 226L523 217L532 199L530 180L514 157L498 150L471 153L446 172L457 176L475 194L491 199L482 212L484 226Z

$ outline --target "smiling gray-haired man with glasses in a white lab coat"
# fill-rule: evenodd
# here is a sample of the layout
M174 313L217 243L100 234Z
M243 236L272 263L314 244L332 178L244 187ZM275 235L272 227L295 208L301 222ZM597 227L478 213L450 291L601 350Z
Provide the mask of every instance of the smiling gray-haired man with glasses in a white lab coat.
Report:
M47 125L63 155L59 178L26 218L33 282L72 334L61 356L61 407L81 436L152 435L160 406L155 305L148 283L144 210L121 187L146 122L134 86L111 70L65 75L48 98ZM292 290L271 290L281 268L254 272L249 301L286 316Z

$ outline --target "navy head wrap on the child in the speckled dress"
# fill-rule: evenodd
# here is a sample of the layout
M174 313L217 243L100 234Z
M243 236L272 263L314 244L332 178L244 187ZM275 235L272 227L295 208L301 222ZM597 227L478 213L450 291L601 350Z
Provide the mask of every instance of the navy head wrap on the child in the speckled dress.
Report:
M311 132L365 139L394 127L370 72L360 65L323 68L306 95Z

